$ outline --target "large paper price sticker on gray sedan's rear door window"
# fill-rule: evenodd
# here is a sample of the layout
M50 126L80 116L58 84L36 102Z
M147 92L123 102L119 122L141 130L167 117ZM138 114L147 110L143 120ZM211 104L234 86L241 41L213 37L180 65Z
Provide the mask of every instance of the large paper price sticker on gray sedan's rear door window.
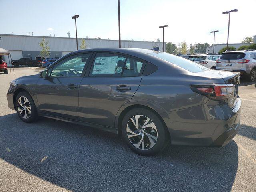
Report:
M118 56L96 57L92 74L115 74L117 59Z

